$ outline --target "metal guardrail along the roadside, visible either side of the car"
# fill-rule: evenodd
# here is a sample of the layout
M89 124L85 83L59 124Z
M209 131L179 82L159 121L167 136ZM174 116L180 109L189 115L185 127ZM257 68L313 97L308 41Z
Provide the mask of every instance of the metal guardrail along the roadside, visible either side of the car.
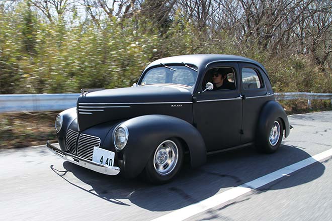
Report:
M0 113L62 111L76 106L80 93L55 94L0 94ZM332 93L274 93L276 100L313 99L331 100Z

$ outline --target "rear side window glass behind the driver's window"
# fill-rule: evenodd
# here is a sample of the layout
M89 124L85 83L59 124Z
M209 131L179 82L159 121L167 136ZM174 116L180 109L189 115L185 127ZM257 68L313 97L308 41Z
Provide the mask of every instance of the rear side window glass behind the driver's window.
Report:
M242 68L242 85L244 89L262 88L262 80L258 72L253 68Z

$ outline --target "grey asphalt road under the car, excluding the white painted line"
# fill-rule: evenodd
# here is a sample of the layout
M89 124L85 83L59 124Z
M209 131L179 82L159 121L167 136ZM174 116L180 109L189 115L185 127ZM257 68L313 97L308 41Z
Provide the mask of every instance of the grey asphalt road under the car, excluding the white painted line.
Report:
M63 161L45 146L0 151L0 220L151 220L232 190L332 148L332 112L289 117L294 126L280 150L254 147L208 157L176 180L98 174ZM332 220L332 160L324 158L290 175L186 220ZM173 213L172 213L173 214Z

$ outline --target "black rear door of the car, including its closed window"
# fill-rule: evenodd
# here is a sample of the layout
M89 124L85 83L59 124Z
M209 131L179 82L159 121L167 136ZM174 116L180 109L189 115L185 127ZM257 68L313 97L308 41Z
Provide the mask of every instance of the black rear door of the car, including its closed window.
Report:
M241 142L255 141L256 128L263 105L273 99L265 84L265 73L257 65L239 62L241 93L243 95L243 119Z

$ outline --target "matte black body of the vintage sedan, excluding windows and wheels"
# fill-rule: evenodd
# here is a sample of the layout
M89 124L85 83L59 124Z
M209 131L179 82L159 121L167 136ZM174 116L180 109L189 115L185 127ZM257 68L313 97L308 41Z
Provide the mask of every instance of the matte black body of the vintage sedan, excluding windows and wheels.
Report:
M63 125L57 133L62 151L68 147L68 130L97 137L100 147L115 152L114 165L126 177L135 177L145 168L156 147L164 140L177 138L189 152L192 167L205 163L209 153L243 147L262 141L276 119L282 135L289 135L289 123L281 105L275 101L267 71L260 63L232 55L184 55L156 60L143 71L162 65L189 65L197 69L191 87L177 84L151 84L107 89L79 96L76 108L61 113ZM236 88L203 91L205 75L213 68L234 71ZM261 78L261 88L245 89L241 70L252 68ZM114 129L124 124L128 131L126 146L114 147ZM76 135L75 135L76 136ZM264 140L264 138L263 138ZM73 151L73 155L77 153ZM88 159L89 160L89 159Z

